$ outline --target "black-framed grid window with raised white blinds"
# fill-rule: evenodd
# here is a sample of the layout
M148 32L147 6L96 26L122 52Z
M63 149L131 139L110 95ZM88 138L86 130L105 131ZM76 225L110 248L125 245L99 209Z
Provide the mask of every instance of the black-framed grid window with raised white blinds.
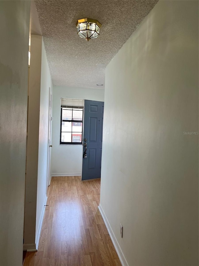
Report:
M83 100L61 99L60 144L82 144Z

